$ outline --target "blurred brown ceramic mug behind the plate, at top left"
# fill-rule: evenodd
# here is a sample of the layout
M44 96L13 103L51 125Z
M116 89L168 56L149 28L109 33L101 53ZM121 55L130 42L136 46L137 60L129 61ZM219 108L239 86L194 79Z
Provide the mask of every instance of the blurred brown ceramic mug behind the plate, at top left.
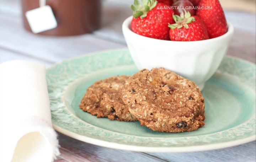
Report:
M91 33L100 28L101 0L46 0L57 20L57 28L38 34L68 36ZM23 24L31 28L25 16L26 11L39 7L39 0L22 0Z

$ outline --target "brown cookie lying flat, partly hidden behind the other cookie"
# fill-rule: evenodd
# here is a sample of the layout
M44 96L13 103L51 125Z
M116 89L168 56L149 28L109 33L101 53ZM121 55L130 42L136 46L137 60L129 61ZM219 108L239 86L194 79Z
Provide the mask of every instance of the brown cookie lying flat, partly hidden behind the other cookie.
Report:
M125 80L129 76L113 76L104 80L96 81L81 100L80 108L84 111L97 115L97 117L108 117L111 120L137 121L131 115L127 106L121 99Z

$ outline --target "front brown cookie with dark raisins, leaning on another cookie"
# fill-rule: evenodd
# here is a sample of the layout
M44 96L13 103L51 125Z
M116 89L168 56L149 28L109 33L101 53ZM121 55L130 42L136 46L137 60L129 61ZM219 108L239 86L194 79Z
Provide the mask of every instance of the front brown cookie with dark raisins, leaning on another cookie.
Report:
M143 69L126 80L122 99L141 125L160 132L204 125L204 98L194 82L164 68Z

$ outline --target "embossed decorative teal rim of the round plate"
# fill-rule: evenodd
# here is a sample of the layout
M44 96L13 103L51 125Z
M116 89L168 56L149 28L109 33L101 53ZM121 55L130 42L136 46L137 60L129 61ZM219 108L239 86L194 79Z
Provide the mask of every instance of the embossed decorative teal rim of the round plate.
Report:
M96 127L82 121L66 108L63 96L72 82L97 70L126 65L132 66L134 63L129 51L124 48L86 54L65 60L47 69L47 84L54 129L87 143L146 152L212 150L235 146L256 139L256 115L252 115L249 120L236 127L216 133L191 137L161 138L122 134ZM255 89L255 71L255 64L226 56L217 73L238 76L246 86ZM253 92L255 93L255 90Z

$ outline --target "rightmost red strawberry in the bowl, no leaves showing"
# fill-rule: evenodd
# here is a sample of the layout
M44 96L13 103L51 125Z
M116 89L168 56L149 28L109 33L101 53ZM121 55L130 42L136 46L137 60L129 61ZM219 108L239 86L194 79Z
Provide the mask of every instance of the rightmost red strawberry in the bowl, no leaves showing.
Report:
M210 38L221 36L228 31L226 18L218 0L201 0L198 7L204 7L204 10L198 9L196 15L206 24Z

